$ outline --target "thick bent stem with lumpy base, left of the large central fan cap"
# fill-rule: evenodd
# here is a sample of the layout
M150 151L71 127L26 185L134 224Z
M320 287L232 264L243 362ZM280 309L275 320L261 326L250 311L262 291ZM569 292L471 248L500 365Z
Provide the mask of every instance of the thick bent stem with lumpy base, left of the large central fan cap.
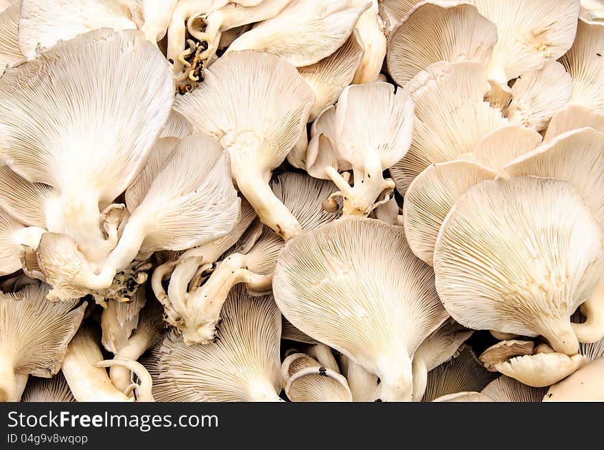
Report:
M246 256L231 254L218 264L205 284L185 296L186 311L181 314L185 319L185 327L181 330L185 343L207 344L216 337L220 310L235 284L246 283L256 291L270 286L272 275L257 275L244 267ZM171 289L172 284L168 293Z

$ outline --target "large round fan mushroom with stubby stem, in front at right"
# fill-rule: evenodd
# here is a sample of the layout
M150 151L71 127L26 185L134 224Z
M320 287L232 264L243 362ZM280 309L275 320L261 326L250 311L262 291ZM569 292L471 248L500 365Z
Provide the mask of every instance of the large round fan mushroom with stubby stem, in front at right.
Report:
M603 253L601 225L570 183L482 181L441 227L437 290L468 328L542 335L574 355L579 341L570 315L601 280Z

